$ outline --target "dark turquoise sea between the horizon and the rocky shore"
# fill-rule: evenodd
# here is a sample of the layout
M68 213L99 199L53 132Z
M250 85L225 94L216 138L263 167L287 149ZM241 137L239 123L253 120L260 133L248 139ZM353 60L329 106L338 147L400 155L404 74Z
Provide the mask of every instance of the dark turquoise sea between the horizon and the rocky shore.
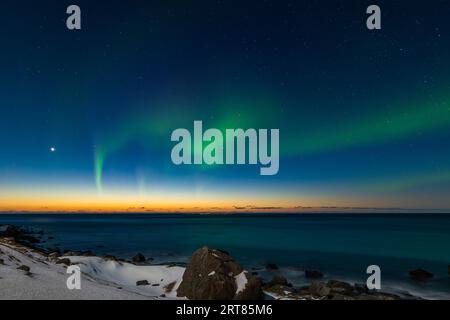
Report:
M155 262L185 262L207 245L248 269L276 263L295 285L307 282L304 269L365 282L367 266L376 264L386 289L450 298L450 215L444 214L10 214L0 215L0 224L43 229L54 237L46 239L48 247L122 258L141 252ZM408 271L419 267L434 280L411 281Z

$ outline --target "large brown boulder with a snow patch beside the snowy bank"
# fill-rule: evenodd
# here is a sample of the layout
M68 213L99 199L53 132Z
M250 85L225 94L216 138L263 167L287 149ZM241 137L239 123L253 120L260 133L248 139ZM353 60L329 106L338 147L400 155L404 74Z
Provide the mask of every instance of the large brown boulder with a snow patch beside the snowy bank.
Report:
M177 290L178 297L194 300L255 300L261 282L226 252L203 247L194 252Z

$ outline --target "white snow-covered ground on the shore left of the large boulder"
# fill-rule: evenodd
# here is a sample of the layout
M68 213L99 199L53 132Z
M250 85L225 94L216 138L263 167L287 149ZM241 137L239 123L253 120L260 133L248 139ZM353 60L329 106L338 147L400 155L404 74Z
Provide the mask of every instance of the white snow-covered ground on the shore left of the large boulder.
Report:
M69 290L63 264L33 249L0 240L1 299L174 299L182 267L137 266L99 257L63 257L82 271L81 290ZM20 270L21 266L30 270ZM137 281L148 284L137 286ZM169 290L170 289L170 290Z

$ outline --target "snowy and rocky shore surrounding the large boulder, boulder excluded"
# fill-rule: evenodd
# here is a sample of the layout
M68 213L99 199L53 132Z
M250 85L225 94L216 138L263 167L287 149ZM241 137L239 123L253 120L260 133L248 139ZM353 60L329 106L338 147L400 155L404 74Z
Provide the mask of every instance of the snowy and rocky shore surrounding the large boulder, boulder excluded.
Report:
M184 273L189 268L189 264L187 268L176 264L149 264L145 257L139 258L141 260L136 262L117 259L110 255L99 257L92 252L69 251L60 254L37 248L36 244L39 240L36 238L33 240L33 236L26 232L22 234L25 241L20 240L19 234L17 236L0 237L0 259L2 259L0 260L2 262L0 263L0 284L4 286L6 283L5 288L7 288L0 293L0 299L180 299L177 296L177 288L183 282ZM216 256L223 251L209 250L207 252L209 256ZM232 258L227 256L225 259ZM31 269L30 271L24 272L17 269L24 263L28 263L27 267ZM87 280L83 282L87 286L86 290L80 292L67 290L65 281L69 275L65 273L65 270L70 265L81 267L83 279ZM320 282L320 277L312 281L310 286L294 287L286 278L274 273L273 279L264 283L257 272L250 270L245 273L247 278L252 277L260 282L259 286L263 293L261 299L422 299L407 292L399 295L387 291L369 291L365 285L339 280L329 280L324 283ZM39 281L36 282L36 280ZM138 285L138 283L141 284ZM167 290L168 285L171 285L171 290ZM236 285L238 286L237 278ZM55 286L59 288L56 291ZM29 291L28 287L32 290ZM46 294L30 296L28 292L45 292ZM102 293L98 294L98 292Z

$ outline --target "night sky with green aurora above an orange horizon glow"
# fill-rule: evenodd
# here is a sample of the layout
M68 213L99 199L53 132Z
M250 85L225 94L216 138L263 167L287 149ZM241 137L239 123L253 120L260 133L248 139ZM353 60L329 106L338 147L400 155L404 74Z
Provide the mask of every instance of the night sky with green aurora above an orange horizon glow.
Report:
M2 211L450 208L448 1L0 10ZM278 175L175 166L170 135L194 120L279 128Z

